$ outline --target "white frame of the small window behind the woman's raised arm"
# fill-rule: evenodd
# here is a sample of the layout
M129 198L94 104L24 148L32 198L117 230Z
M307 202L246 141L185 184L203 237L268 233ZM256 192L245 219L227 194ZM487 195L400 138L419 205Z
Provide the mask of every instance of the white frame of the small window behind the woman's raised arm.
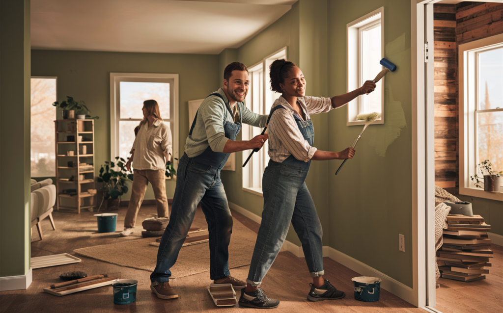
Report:
M384 58L384 7L372 11L371 13L346 25L346 90L350 92L362 85L362 81L373 79L374 77L362 76L362 51L361 32L381 24L381 58ZM384 68L384 67L383 67ZM378 73L375 73L376 75ZM373 124L384 124L384 78L378 82L381 88L381 118ZM347 105L346 125L365 125L365 121L358 121L356 117L363 111L362 97L358 96Z

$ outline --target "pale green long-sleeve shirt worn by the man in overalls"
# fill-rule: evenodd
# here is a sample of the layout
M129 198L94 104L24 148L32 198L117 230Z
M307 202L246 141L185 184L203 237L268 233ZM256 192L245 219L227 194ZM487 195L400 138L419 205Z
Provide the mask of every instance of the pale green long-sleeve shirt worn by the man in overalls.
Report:
M197 112L196 126L192 131L192 135L187 137L185 144L185 153L190 158L203 153L208 145L215 152L223 152L223 148L227 140L229 140L229 138L225 137L223 128L224 121L234 122L232 115L227 109L230 108L229 100L222 88L216 92L223 96L225 104L216 95L207 97L201 103ZM251 112L242 102L237 102L236 105L239 106L239 110L241 111L241 121L243 124L255 127L264 127L266 125L268 115Z

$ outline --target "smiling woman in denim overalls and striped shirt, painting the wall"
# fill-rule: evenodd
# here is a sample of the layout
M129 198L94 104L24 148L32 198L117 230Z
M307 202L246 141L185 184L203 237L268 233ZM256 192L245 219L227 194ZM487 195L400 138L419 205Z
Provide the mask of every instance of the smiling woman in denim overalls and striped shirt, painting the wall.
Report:
M313 278L307 298L311 301L340 299L345 293L323 279L321 223L305 179L311 160L352 159L355 150L329 152L314 148L314 128L309 115L340 108L358 95L374 90L375 83L366 81L361 88L332 98L310 97L304 96L306 81L294 63L276 60L270 68L271 89L282 95L273 103L269 114L271 160L262 178L262 224L239 304L256 308L279 305L279 300L267 297L259 286L283 246L290 223L302 243Z

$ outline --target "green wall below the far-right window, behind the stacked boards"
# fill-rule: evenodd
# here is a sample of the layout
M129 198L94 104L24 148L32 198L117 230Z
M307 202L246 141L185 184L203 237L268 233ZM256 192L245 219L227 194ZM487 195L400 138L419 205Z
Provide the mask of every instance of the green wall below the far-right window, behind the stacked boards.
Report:
M462 194L456 196L462 201L472 203L473 214L484 218L485 223L491 226L491 233L503 236L503 204L501 201Z

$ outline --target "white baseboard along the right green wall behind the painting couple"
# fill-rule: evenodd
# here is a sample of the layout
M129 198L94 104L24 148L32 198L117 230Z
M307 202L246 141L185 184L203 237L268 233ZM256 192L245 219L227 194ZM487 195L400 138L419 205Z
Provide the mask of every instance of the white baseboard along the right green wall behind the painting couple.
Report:
M232 208L233 210L239 212L240 214L244 215L245 217L257 222L261 223L262 218L259 216L247 211L245 208L240 207L237 204L234 204L232 202L229 202L229 207ZM495 234L494 234L495 235ZM499 235L496 235L499 236ZM501 236L503 238L503 236ZM304 251L302 250L302 247L297 246L294 243L289 242L288 240L285 241L282 247L282 251L288 251L295 255L296 257L303 258L304 257ZM413 292L412 288L409 286L404 285L403 283L399 282L396 279L393 279L389 277L388 275L376 270L375 268L372 268L368 266L365 263L362 263L358 261L357 259L354 259L350 257L349 255L346 255L340 251L337 251L336 249L333 249L329 246L323 246L323 256L324 257L329 257L330 259L341 263L342 265L346 266L347 268L354 270L355 272L359 273L362 276L372 276L372 277L379 277L381 278L381 287L392 294L396 295L397 297L400 297L404 299L405 301L412 303L413 302Z

